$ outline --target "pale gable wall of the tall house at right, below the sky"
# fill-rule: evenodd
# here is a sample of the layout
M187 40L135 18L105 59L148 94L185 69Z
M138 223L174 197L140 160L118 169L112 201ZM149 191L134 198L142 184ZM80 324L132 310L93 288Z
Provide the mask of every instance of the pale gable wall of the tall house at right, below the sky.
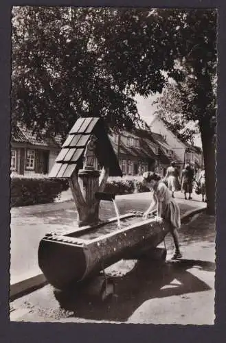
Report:
M180 143L176 137L174 137L174 134L172 134L170 130L166 128L161 120L157 118L150 123L150 130L152 130L152 132L161 134L161 136L166 139L166 142L168 145L170 145L173 152L181 159L182 162L184 161L185 146L183 143Z

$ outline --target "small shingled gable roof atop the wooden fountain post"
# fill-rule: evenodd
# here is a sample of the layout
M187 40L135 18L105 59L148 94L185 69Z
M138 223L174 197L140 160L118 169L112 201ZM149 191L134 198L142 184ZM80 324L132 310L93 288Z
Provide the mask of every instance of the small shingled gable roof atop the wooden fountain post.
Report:
M76 169L82 167L84 150L91 137L95 134L96 156L100 165L109 167L109 176L122 176L120 165L109 140L104 121L98 117L79 118L71 128L63 143L63 149L56 158L56 163L49 177L70 178Z

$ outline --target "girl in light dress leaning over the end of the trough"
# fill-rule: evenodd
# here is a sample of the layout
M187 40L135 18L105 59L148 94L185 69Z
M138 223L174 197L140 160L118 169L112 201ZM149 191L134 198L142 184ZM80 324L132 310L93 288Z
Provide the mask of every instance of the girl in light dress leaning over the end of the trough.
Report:
M153 200L150 203L147 211L144 212L143 218L148 217L148 213L157 207L157 220L165 220L170 225L170 234L174 240L174 255L172 259L180 259L182 257L179 248L179 235L177 230L181 226L180 209L177 202L172 198L170 190L164 184L158 174L152 171L146 171L143 174L143 184L149 189L153 189Z

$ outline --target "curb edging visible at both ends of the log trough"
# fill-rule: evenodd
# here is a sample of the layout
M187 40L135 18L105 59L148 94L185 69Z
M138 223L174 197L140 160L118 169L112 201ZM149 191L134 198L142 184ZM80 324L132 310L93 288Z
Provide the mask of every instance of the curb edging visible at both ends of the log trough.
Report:
M181 215L181 223L185 224L185 222L187 222L187 220L192 215L204 212L205 209L206 208L194 209L188 211L184 215ZM36 289L39 289L47 284L48 281L47 279L45 279L44 274L38 274L36 276L32 276L29 279L14 283L13 285L10 285L10 301L16 300L16 298L20 298L21 296L34 292Z

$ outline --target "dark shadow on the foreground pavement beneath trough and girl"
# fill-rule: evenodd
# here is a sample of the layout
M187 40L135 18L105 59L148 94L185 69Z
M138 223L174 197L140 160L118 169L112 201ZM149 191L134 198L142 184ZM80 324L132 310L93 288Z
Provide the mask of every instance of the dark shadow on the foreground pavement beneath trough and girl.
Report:
M74 313L71 317L125 322L146 300L211 289L190 268L214 272L215 264L184 259L167 261L158 268L150 266L149 261L138 261L131 272L114 278L115 294L105 302L71 293L55 296L61 308Z

